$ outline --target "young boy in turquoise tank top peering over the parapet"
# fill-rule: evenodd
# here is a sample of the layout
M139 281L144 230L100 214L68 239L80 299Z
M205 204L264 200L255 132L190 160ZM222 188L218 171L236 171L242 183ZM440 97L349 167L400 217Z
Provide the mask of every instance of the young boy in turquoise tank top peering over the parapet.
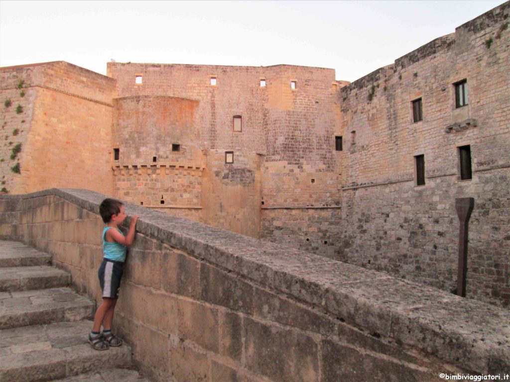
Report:
M96 350L107 350L110 346L122 345L122 340L112 333L113 313L119 296L122 266L126 257L126 250L135 239L135 227L138 216L131 217L131 224L127 236L119 230L126 214L122 202L115 199L105 199L99 206L99 213L106 227L103 230L103 262L99 266L98 276L103 302L97 308L94 326L89 334L89 343ZM101 324L103 333L100 332Z

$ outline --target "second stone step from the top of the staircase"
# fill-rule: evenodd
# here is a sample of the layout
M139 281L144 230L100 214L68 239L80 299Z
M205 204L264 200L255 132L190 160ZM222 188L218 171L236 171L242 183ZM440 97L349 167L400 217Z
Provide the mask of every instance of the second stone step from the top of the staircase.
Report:
M0 292L58 288L69 285L71 276L51 266L0 268Z

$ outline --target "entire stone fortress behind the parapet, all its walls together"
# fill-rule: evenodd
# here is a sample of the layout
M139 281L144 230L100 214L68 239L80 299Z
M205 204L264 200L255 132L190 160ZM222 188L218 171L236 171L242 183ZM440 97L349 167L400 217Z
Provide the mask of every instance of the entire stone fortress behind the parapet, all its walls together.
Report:
M352 84L293 65L2 68L2 187L88 188L444 290L455 198L473 197L468 296L508 306L509 12Z

